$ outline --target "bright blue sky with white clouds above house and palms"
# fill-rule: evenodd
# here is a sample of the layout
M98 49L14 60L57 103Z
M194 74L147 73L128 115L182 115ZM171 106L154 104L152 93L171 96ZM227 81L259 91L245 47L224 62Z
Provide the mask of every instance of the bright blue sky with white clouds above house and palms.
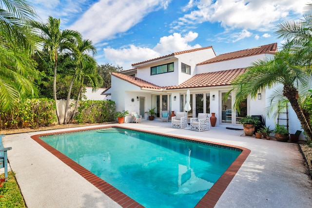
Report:
M132 63L199 47L217 55L277 42L276 24L311 0L33 0L40 21L61 20L97 47L98 64Z

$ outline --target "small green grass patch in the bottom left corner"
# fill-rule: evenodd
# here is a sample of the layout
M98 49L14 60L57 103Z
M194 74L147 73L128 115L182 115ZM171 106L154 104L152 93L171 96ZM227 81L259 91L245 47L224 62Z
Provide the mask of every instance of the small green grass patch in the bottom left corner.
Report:
M4 173L0 178L4 178ZM0 208L26 208L13 171L8 172L7 182L0 184Z

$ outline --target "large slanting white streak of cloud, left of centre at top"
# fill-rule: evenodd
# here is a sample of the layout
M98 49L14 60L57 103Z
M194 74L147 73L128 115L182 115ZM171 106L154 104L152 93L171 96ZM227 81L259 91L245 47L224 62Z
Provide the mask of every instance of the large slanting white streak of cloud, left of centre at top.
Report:
M148 13L167 6L168 0L99 0L70 29L98 43L128 31Z

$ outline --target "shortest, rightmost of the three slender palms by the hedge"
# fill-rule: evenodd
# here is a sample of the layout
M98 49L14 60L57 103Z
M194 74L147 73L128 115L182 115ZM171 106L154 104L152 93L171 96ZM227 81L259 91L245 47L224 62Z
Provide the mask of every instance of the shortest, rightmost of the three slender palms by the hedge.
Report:
M80 88L79 93L75 105L74 113L72 114L71 118L69 119L68 123L71 123L78 108L79 98L82 92L82 87L84 85L85 79L88 80L88 83L91 84L92 90L97 89L103 84L103 78L97 72L97 63L93 57L84 58L82 61L82 68L79 70L77 75L77 79L80 80Z

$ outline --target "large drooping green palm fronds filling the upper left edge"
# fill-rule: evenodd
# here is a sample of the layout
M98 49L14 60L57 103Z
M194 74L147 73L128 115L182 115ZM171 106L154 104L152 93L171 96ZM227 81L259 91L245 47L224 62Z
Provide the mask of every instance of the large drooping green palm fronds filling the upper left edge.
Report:
M37 95L31 59L36 38L28 21L36 17L24 0L0 0L0 106L8 110L27 96Z

